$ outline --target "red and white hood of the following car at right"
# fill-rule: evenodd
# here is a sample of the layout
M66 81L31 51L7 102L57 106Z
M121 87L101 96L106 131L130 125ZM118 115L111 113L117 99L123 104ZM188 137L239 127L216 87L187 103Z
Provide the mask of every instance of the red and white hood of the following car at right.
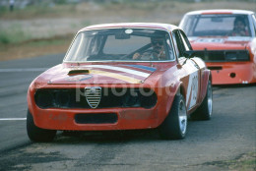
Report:
M189 37L194 50L243 50L252 37Z

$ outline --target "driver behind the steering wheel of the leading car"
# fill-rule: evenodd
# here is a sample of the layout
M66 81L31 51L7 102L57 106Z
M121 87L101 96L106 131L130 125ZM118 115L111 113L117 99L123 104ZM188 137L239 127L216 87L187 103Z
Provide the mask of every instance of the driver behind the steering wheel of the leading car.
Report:
M135 53L133 55L134 60L164 60L165 51L163 47L163 38L151 38L151 47L149 50L146 50L142 53Z

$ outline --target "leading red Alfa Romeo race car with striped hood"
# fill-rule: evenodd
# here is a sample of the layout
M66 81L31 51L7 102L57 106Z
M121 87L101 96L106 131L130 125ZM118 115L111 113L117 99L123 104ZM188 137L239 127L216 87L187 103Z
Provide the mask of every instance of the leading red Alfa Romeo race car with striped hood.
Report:
M155 128L163 139L183 139L188 116L209 120L213 110L211 72L191 50L171 25L79 30L63 63L29 87L30 139L52 141L57 130Z

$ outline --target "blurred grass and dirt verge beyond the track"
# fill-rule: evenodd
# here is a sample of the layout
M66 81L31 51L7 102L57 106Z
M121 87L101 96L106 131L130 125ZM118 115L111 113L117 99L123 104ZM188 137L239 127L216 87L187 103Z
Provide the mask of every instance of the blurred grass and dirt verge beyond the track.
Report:
M89 25L118 22L178 25L184 13L193 10L222 8L255 11L253 0L208 0L199 3L167 0L147 3L117 0L103 3L98 0L56 5L47 5L45 2L24 9L15 8L13 12L8 11L8 7L0 8L0 61L65 52L72 39L72 35L66 34L74 34L78 28ZM56 37L56 34L62 36ZM35 39L50 36L53 37Z

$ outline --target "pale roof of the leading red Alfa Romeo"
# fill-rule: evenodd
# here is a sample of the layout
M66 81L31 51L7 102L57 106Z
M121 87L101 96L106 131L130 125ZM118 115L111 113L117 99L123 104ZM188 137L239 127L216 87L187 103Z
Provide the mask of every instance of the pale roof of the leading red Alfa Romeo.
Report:
M152 28L152 29L162 29L166 31L172 31L178 27L168 24L159 23L116 23L116 24L102 24L94 25L87 28L82 28L80 31L91 30L91 29L104 29L104 28ZM180 28L179 28L180 29Z

